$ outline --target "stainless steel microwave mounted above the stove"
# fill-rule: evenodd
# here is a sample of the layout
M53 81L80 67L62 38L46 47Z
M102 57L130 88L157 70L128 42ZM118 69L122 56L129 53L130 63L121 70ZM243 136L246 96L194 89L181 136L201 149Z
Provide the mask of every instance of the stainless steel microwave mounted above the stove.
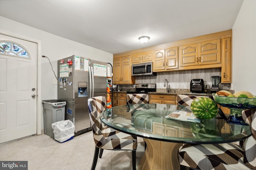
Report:
M132 64L132 76L156 76L153 62Z

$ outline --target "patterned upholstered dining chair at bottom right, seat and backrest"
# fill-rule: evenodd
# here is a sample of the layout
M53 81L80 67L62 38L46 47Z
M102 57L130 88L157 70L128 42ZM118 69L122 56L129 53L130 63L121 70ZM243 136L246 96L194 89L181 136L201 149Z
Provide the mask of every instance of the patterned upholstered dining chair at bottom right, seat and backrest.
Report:
M256 109L242 111L252 136L234 143L186 144L179 152L180 165L201 170L256 170Z

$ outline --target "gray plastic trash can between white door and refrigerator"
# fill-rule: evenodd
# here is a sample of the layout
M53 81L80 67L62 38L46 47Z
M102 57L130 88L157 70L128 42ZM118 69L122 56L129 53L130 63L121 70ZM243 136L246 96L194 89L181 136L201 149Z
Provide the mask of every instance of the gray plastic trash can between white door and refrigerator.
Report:
M43 100L44 106L44 134L54 138L52 123L65 120L64 100Z

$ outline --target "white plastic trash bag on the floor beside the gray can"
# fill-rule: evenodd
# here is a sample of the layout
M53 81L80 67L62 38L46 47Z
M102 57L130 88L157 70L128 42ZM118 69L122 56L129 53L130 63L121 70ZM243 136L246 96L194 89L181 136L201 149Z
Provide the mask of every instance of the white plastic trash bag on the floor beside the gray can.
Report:
M69 141L74 137L75 125L70 120L62 120L52 123L54 139L60 143Z

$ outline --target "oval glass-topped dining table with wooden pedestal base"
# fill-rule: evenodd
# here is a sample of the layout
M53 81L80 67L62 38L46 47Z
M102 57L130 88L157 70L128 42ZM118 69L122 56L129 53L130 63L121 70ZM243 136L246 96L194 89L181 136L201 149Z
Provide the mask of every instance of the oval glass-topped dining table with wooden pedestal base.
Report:
M228 124L224 119L201 120L200 123L166 118L190 107L172 104L131 104L106 109L102 122L118 131L142 137L145 153L139 170L178 170L178 150L184 143L217 144L241 141L252 135L250 125Z

